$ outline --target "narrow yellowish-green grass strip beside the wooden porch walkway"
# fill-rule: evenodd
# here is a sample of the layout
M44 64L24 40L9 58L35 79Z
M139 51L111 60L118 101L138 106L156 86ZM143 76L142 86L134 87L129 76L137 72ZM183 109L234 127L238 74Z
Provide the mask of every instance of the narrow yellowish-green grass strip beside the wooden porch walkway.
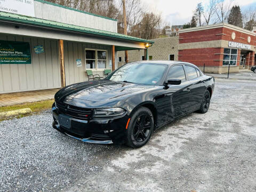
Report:
M30 108L33 111L33 113L35 113L42 110L51 109L53 102L54 102L54 99L51 99L51 100L45 100L45 101L24 103L21 105L0 107L0 113L5 111L10 111L10 110L23 109L23 108Z

